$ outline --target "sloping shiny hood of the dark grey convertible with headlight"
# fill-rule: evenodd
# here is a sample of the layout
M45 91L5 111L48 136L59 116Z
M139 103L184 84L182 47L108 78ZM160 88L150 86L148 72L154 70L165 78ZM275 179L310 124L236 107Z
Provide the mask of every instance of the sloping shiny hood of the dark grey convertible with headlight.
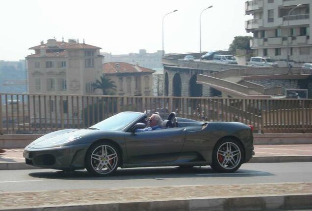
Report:
M94 130L91 129L63 129L48 133L31 142L26 148L59 147L70 140L77 140Z

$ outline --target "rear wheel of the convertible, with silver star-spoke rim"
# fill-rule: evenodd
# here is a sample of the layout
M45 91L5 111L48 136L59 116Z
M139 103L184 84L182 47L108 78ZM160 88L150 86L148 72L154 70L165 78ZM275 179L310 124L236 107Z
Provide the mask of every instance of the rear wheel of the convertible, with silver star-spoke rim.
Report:
M217 172L234 172L242 164L244 151L240 142L225 138L213 148L211 168Z

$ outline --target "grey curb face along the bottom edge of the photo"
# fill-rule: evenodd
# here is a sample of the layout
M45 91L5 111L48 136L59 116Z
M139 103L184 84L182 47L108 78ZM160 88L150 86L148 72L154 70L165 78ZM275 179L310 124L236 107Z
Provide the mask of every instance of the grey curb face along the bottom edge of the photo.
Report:
M12 208L6 211L277 211L312 209L312 194L139 201L104 204L68 204Z

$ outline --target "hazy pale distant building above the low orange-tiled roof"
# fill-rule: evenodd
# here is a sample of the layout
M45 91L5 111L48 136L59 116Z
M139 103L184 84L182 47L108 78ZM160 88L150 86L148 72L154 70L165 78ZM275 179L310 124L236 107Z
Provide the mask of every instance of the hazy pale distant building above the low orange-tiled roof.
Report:
M158 50L155 53L147 53L145 49L140 49L139 53L129 53L112 55L111 53L101 53L104 56L103 63L124 62L130 64L138 64L146 68L162 68L161 56L162 51Z

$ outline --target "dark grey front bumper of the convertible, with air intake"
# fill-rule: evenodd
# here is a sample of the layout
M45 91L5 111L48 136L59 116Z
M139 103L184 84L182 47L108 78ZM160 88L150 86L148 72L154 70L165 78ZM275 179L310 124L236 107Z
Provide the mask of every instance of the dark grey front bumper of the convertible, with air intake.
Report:
M49 169L84 169L84 158L90 144L55 148L25 148L27 165Z

